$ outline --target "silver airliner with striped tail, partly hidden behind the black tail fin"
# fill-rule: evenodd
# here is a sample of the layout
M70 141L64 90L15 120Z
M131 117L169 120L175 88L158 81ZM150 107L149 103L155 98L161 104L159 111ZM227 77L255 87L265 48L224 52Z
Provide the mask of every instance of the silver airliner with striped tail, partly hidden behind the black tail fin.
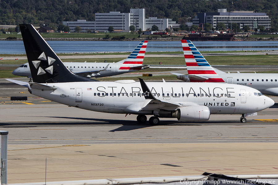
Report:
M148 41L141 41L132 53L124 60L116 63L106 62L64 62L65 66L73 73L86 77L104 77L120 75L127 72L134 72L149 68L149 65L142 65ZM51 61L49 62L51 63ZM32 78L29 64L25 63L13 72L13 75L27 76Z

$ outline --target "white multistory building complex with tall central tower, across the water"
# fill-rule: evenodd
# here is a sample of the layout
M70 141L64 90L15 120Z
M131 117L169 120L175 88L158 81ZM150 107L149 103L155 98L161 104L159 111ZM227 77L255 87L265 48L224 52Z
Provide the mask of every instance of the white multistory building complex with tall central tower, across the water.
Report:
M132 8L130 9L130 13L96 13L95 21L63 21L63 24L65 26L69 26L70 31L74 31L75 27L80 26L82 32L86 32L87 29L104 32L108 31L109 26L112 26L115 30L122 30L123 32L129 32L129 27L131 25L136 28L136 31L138 31L139 28L141 28L142 31L145 31L153 25L158 26L159 30L179 26L179 24L176 24L176 22L172 21L172 19L158 19L157 17L149 17L149 19L145 19L144 8Z

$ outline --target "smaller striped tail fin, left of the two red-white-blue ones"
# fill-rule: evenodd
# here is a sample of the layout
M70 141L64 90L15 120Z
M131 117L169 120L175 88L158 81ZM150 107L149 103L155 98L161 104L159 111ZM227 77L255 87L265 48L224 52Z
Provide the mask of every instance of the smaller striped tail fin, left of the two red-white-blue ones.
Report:
M141 41L132 53L124 60L117 62L118 64L143 64L145 51L148 41Z

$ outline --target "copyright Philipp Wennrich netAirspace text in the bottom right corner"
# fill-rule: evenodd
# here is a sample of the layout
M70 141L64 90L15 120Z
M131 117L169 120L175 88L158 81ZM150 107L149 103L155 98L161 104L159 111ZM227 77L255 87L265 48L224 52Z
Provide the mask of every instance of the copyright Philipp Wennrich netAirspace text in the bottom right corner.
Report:
M188 181L188 180L180 180L179 181L181 184L186 184L186 185L203 185L203 184L208 184L208 185L219 185L219 184L255 184L255 183L261 183L261 184L275 184L275 180L226 180L226 179L221 179L220 180L195 180L195 181Z

